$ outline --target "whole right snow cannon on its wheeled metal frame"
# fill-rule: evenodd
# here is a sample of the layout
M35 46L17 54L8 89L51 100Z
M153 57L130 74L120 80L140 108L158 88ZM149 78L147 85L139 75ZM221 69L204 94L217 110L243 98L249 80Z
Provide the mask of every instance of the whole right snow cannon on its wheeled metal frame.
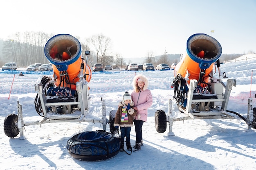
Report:
M174 79L171 87L174 87L173 100L180 111L174 117L172 114L172 99L168 100L168 116L164 110L155 112L155 129L158 133L164 133L169 125L168 136L174 135L173 122L195 119L243 119L248 125L249 109L247 118L240 114L227 110L229 96L236 79L227 79L227 84L222 82L220 76L227 78L225 72L220 72L220 55L222 47L213 37L206 34L194 34L187 40L187 54L174 68ZM214 77L213 65L218 67L219 77ZM215 67L216 71L216 67ZM252 101L252 100L250 100ZM252 105L248 100L248 108ZM256 110L256 109L255 109ZM232 116L229 113L236 116ZM256 126L254 126L256 127Z

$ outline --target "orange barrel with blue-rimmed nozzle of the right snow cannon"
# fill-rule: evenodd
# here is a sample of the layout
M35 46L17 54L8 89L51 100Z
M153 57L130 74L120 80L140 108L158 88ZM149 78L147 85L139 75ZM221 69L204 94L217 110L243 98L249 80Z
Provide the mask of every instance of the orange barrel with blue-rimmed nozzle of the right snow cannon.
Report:
M174 76L181 74L182 77L199 80L200 73L204 71L204 82L209 81L209 74L213 65L222 53L220 43L207 34L194 34L189 37L186 44L187 54L177 63Z

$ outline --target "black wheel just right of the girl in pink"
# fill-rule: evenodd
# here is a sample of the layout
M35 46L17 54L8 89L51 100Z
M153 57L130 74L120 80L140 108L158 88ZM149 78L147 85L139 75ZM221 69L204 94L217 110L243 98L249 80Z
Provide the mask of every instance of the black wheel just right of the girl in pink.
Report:
M158 133L164 133L166 131L166 115L163 110L157 110L155 112L155 130Z

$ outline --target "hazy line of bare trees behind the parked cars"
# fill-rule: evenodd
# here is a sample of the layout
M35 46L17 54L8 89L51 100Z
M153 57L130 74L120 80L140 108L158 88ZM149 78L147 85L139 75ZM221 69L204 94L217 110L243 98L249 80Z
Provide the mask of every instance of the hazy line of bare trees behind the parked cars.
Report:
M52 36L53 35L41 32L27 32L23 34L16 33L14 39L9 39L8 41L0 39L0 67L6 62L16 62L18 67L27 67L34 63L49 63L44 54L44 46ZM123 57L117 54L115 56L109 54L110 41L111 39L104 35L94 35L88 38L86 42L80 41L82 49L92 49L90 50L91 55L88 61L90 66L94 63L102 63L103 66L110 64L113 68L125 68L128 63L125 62ZM236 59L242 55L243 54L222 54L220 62ZM159 63L171 65L172 63L178 63L180 61L180 54L163 54L161 56L148 54L147 57L141 58L144 58L143 63L150 62L155 66ZM127 60L136 63L136 59L126 59L126 61Z

